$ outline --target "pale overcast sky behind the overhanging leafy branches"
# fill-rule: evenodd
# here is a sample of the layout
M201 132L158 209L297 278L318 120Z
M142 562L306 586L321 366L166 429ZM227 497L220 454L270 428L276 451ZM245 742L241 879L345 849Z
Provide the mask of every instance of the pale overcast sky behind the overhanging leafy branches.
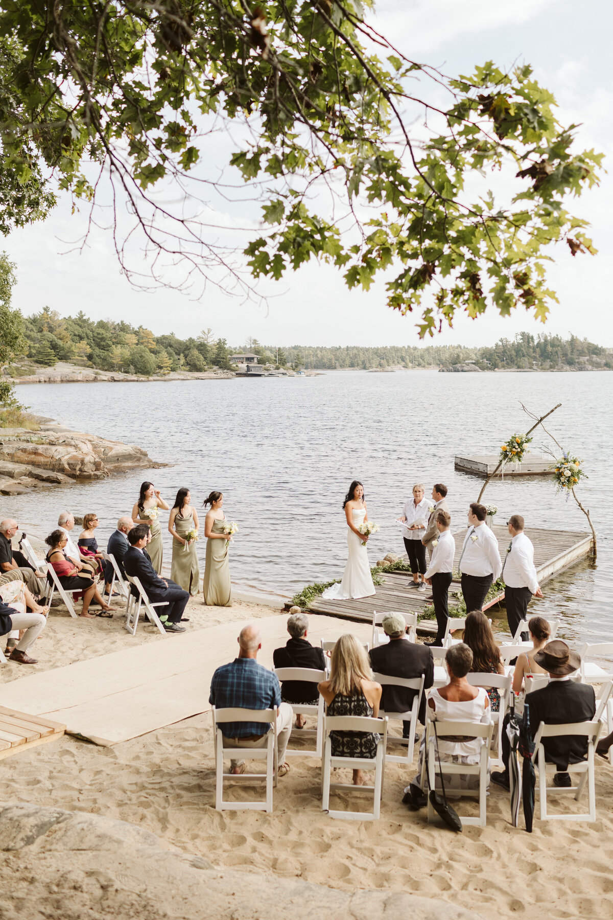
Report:
M562 123L581 122L579 144L608 155L613 140L613 76L608 65L612 23L605 0L383 0L375 25L416 60L440 66L447 74L469 74L475 64L494 60L508 66L531 63L539 81L560 105ZM453 330L434 342L485 345L521 330L568 336L573 333L613 346L611 248L613 178L571 202L571 210L592 224L596 258L573 259L557 247L549 279L560 304L546 326L525 311L502 318L491 311L477 321L460 317ZM90 237L81 253L64 254L66 240L83 232L85 213L70 213L67 202L44 224L17 231L0 247L17 262L14 305L24 314L49 305L62 315L83 309L97 318L123 318L155 334L180 337L212 328L234 345L254 336L267 344L390 345L417 344L414 318L385 305L382 285L369 293L349 292L334 269L312 263L273 289L267 307L244 304L210 288L194 302L171 290L135 291L120 274L111 240Z

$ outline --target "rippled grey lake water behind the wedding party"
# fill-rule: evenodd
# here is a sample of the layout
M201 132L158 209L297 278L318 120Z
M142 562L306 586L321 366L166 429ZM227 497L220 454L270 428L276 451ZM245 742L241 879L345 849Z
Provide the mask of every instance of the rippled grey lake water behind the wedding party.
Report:
M596 563L583 562L551 580L543 615L560 615L569 640L611 638L613 376L573 374L438 374L407 371L327 372L316 377L177 381L143 384L23 385L17 396L33 412L76 431L92 431L144 447L172 464L96 483L40 489L2 498L2 517L44 536L63 508L96 512L98 542L130 513L143 479L172 505L191 489L200 508L211 489L224 494L226 516L240 525L231 546L233 581L243 588L291 595L312 581L342 574L346 525L342 501L351 479L364 483L369 518L380 533L369 541L371 564L402 552L394 518L414 482L448 486L452 529L464 526L482 480L453 468L454 454L497 453L514 431L531 425L519 405L542 414L558 441L585 460L589 479L579 494L598 533ZM550 443L535 432L532 449ZM555 448L554 448L555 449ZM505 479L484 500L498 521L518 512L527 525L586 531L573 499L557 495L549 477ZM163 513L163 526L167 516ZM203 514L201 519L201 529ZM204 569L206 542L199 542ZM165 531L165 560L171 537ZM495 615L495 614L494 614Z

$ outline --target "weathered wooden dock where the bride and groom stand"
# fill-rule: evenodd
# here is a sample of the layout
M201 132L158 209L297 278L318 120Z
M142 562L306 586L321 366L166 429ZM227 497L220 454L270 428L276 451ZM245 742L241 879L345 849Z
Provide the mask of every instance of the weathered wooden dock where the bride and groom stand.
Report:
M505 524L494 524L492 530L496 535L500 546L500 555L505 561L505 550L509 545L510 536ZM464 535L466 531L456 531L454 537L456 540L456 556L453 561L454 569L458 569L460 563L460 552ZM540 584L549 581L554 575L557 575L563 569L568 569L573 563L578 562L589 555L592 549L592 535L577 533L576 531L567 530L545 530L543 528L530 527L526 530L526 535L534 545L534 564L537 569ZM313 601L309 610L315 614L328 614L331 616L340 616L349 620L362 622L372 620L372 614L376 610L381 613L386 610L400 611L401 613L421 614L424 607L432 604L432 593L428 590L425 592L416 591L409 588L411 575L409 572L389 572L381 576L383 584L375 588L375 594L370 597L362 597L358 600L349 601L326 601L322 597ZM449 588L449 594L460 591L460 582L452 581ZM505 595L500 594L494 598L487 606L499 603L504 600ZM457 599L449 596L449 606L457 604ZM487 609L487 607L485 608ZM427 623L427 621L426 621ZM426 623L424 624L426 626Z

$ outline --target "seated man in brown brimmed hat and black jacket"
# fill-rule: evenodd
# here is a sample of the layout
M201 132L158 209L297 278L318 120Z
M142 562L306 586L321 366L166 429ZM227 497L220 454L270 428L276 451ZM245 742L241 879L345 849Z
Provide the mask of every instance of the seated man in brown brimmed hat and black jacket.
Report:
M569 649L561 639L553 639L537 651L534 661L550 675L550 682L540 690L528 693L524 700L524 713L528 710L530 731L534 738L539 725L564 725L567 722L590 722L596 715L596 695L590 684L576 684L570 675L581 667L581 656ZM554 786L571 786L567 772L569 764L580 764L587 756L587 739L583 735L560 735L543 738L545 760L555 764L558 772L553 776ZM509 787L509 742L503 731L504 771L493 773L498 786Z

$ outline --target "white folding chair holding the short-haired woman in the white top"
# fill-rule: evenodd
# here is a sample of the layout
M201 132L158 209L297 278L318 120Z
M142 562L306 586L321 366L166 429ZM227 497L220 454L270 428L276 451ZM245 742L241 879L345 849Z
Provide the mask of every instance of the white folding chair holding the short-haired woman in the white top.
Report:
M427 711L427 707L426 707ZM479 764L468 765L468 764L450 764L447 761L441 760L440 768L438 766L438 757L437 757L437 738L435 735L435 720L426 719L426 747L427 747L427 761L428 761L428 776L429 776L429 788L436 788L436 777L440 776L441 772L443 777L461 774L463 776L479 776L479 788L478 789L460 789L454 787L453 789L448 790L446 787L446 794L451 794L452 797L456 796L468 796L472 799L479 800L479 817L478 818L462 818L460 815L460 821L462 826L464 824L477 824L479 827L485 827L487 821L486 816L486 807L487 807L487 761L490 747L492 745L492 735L494 733L494 723L490 722L487 725L482 724L482 722L450 722L450 721L436 721L437 725L437 734L441 738L444 735L454 735L459 736L463 735L467 738L482 738L482 748L479 755ZM422 766L422 788L426 789L426 757L424 757L424 764ZM445 782L445 778L443 778ZM430 803L430 797L428 796L428 823L434 820L436 811Z

